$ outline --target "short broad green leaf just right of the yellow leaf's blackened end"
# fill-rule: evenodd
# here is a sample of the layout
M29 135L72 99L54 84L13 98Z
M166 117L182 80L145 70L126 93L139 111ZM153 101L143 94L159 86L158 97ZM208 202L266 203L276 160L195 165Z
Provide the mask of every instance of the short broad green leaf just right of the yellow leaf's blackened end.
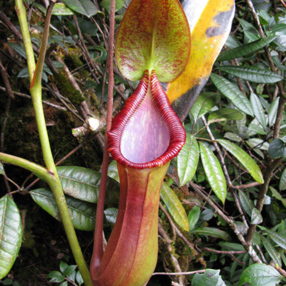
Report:
M219 100L220 96L217 93L201 93L190 110L194 121L197 121L198 118L209 112L219 102Z

